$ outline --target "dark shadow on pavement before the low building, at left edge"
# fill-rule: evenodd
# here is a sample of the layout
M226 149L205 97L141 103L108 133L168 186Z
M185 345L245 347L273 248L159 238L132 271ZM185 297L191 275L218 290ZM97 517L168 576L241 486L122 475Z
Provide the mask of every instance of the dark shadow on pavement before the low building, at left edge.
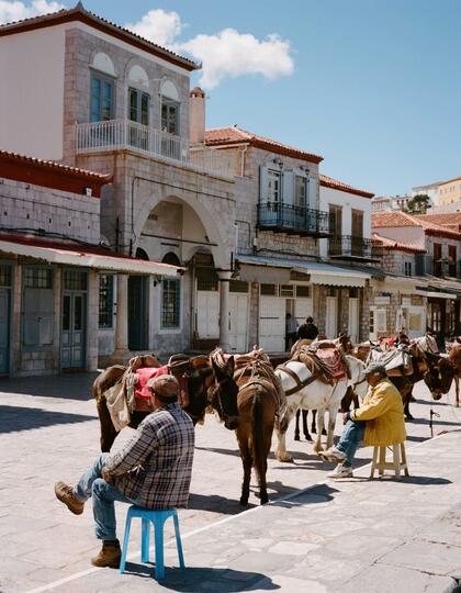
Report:
M97 377L97 372L76 372L49 377L1 379L0 393L89 401L93 398L91 385Z

